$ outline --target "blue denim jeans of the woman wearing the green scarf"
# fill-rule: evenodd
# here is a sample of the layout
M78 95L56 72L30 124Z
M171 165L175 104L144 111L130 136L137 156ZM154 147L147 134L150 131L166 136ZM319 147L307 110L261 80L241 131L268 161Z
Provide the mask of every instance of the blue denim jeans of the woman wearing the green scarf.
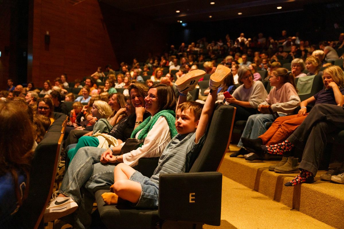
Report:
M106 149L83 147L75 154L63 178L60 190L71 197L78 209L64 220L75 228L88 228L95 197L93 189L97 186L114 183L115 164L100 163L100 156Z

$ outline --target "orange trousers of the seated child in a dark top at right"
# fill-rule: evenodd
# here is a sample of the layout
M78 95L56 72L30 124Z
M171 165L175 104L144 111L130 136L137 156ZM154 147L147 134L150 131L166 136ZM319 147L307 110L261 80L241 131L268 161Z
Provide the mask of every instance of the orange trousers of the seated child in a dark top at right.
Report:
M301 125L306 115L287 115L276 118L270 128L258 138L263 141L263 145L275 145L286 140L294 130Z

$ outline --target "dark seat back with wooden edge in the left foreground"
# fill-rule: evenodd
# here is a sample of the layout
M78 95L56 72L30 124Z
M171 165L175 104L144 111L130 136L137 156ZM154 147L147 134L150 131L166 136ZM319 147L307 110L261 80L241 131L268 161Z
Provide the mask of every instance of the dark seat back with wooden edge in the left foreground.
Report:
M37 145L31 163L28 197L13 218L16 228L44 228L43 214L53 192L67 116L54 113L55 122Z

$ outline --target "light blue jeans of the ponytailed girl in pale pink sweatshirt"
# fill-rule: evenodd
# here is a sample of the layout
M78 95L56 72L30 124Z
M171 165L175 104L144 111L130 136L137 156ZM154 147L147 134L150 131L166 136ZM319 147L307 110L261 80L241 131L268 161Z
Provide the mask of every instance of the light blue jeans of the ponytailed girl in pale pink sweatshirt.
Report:
M279 114L279 116L285 116L285 114ZM258 136L264 134L265 131L267 130L265 123L273 122L273 121L275 121L275 118L271 114L251 115L247 119L247 123L241 137L256 139L258 138ZM243 142L241 142L241 139L237 146L240 148L244 148Z

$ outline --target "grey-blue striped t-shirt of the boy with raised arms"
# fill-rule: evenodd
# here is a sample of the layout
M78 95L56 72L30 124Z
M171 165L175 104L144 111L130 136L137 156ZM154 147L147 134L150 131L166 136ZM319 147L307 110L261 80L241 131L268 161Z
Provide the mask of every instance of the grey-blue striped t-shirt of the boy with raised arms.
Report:
M203 135L198 144L195 144L195 137L195 133L174 136L162 152L158 167L150 180L159 184L160 174L189 172L190 162L193 163L196 159L205 140Z

